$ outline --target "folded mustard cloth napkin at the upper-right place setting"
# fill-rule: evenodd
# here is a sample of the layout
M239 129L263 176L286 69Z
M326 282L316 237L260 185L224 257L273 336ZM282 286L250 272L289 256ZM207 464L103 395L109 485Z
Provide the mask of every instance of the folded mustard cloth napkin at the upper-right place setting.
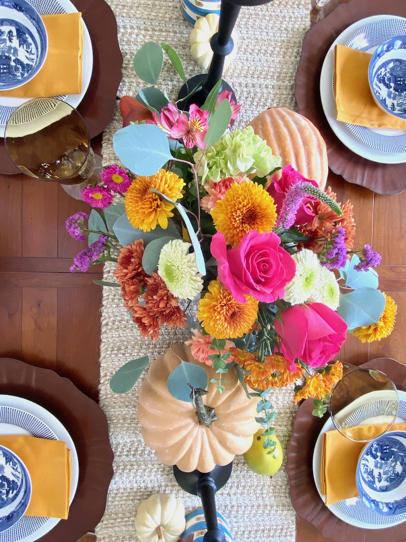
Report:
M336 45L334 94L337 120L368 128L406 130L406 120L386 113L372 98L368 82L371 56L344 45Z

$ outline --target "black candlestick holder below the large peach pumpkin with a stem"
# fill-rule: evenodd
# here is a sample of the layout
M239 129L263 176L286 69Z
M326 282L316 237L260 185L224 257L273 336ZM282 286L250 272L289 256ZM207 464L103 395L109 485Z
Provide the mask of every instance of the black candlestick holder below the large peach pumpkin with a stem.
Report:
M180 487L187 493L199 495L201 499L207 526L203 542L225 542L226 540L225 534L219 529L217 521L215 493L227 483L232 468L232 462L224 467L216 465L209 473L201 473L199 470L185 473L176 465L173 467L176 482L179 483Z

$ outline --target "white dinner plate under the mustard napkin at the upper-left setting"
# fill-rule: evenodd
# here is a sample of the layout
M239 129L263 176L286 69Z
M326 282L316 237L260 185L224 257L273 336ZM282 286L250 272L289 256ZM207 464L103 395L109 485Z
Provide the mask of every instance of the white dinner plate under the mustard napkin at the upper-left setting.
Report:
M74 13L77 11L70 0L28 0L40 15L55 15L60 13ZM63 96L55 96L59 100L67 102L72 107L77 107L86 94L90 84L91 73L93 72L93 48L89 30L82 19L82 35L83 35L83 55L82 55L82 88L80 94L68 94ZM24 102L37 98L9 98L7 96L0 97L0 137L4 137L5 126L10 115L15 109L24 104Z

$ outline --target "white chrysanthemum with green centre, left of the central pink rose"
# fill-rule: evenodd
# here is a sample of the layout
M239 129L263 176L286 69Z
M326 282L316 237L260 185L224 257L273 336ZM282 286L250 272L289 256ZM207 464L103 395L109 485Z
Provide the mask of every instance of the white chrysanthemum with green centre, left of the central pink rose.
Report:
M166 243L159 255L158 274L169 292L180 299L194 299L203 289L196 257L188 254L190 243L173 239Z

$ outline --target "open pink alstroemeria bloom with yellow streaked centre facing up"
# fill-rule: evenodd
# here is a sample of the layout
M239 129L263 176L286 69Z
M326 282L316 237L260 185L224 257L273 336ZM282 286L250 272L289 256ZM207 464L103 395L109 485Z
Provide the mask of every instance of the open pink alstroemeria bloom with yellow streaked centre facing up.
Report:
M201 111L199 107L192 104L189 108L189 118L185 113L179 115L175 125L171 128L171 137L182 139L186 147L206 149L205 135L208 128L208 111Z

